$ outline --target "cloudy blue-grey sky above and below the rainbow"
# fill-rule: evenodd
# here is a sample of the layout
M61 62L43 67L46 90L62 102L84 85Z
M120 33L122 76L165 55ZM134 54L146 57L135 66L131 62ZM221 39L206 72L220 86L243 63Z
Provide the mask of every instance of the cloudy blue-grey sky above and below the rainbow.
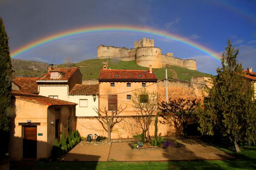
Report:
M0 0L0 17L10 52L63 31L102 25L165 31L221 56L227 40L239 48L239 62L256 71L256 0ZM156 34L99 31L64 37L17 55L57 64L97 56L97 46L133 48L134 40L154 39L162 53L196 59L198 71L216 74L221 63L204 51Z

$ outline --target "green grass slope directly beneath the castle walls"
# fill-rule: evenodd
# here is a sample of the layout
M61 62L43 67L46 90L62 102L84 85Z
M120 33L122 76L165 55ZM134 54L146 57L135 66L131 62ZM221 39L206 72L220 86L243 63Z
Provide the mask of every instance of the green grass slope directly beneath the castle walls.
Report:
M98 79L99 71L102 69L102 62L106 59L87 59L78 63L62 64L59 67L79 67L83 79ZM108 67L111 69L125 70L148 70L147 67L137 65L135 61L119 61L117 59L108 59ZM178 79L189 81L191 77L212 77L210 74L205 74L199 71L193 71L177 66L170 66L177 74ZM153 68L157 79L165 79L165 68ZM175 77L175 73L168 69L168 77Z

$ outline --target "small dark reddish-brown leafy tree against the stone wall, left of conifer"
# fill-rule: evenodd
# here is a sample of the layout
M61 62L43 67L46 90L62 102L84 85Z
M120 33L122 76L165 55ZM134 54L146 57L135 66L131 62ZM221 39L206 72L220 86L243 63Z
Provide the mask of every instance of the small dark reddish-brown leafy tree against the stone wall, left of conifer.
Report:
M169 99L168 103L161 102L159 109L162 112L160 115L165 120L162 123L170 123L176 129L176 134L183 133L186 136L186 126L188 122L192 122L195 118L194 111L198 106L197 99ZM171 122L168 122L168 119Z

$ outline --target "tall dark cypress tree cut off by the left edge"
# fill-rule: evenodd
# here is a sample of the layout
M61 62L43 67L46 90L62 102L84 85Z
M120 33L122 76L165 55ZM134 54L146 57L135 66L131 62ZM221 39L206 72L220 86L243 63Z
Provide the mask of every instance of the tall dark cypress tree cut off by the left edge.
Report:
M12 63L8 37L0 18L0 133L9 131L8 110L11 106Z

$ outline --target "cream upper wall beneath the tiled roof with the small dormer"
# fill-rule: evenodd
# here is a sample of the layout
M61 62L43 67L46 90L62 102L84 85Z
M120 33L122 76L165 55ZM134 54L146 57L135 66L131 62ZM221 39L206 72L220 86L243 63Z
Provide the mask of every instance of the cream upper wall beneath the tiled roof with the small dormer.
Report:
M41 96L58 96L68 101L68 85L38 85L38 91Z

